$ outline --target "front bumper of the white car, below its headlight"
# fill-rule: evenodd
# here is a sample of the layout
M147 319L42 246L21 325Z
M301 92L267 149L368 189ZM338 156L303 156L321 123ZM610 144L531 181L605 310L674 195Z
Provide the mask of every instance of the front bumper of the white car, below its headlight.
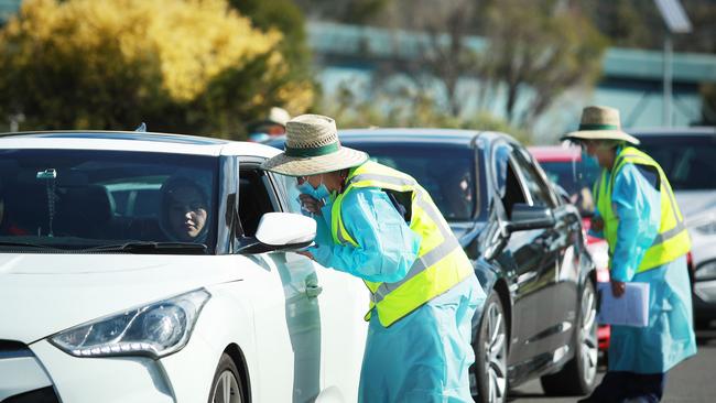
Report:
M194 336L185 349L161 360L77 358L37 341L12 357L0 355L0 401L28 393L32 402L33 391L52 388L58 402L205 402L220 351Z

